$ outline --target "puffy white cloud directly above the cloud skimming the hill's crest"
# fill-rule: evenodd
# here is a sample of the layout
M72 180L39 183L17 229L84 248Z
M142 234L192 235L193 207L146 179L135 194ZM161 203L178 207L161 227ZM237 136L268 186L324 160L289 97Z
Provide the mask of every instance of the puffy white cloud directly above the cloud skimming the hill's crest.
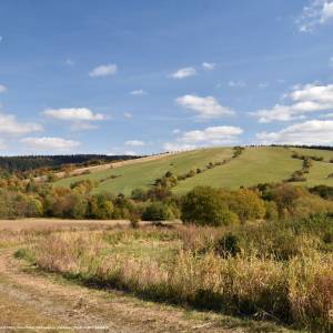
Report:
M178 98L175 102L185 109L194 111L202 119L234 114L234 111L221 105L215 98L210 95L202 98L193 94L185 94Z

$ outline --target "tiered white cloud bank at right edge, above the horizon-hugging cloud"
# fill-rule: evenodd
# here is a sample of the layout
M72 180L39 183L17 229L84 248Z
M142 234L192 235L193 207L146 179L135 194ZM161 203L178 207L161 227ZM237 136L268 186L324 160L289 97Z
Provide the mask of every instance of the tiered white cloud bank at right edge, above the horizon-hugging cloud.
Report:
M251 112L262 123L291 121L304 119L306 113L327 111L333 109L333 84L327 85L297 85L295 90L285 95L291 104L276 104L272 109Z

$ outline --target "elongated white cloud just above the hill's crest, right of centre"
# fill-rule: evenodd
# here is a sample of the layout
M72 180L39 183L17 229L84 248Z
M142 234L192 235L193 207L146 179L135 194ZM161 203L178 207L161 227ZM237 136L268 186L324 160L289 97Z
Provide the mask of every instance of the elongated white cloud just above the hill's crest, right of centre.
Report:
M200 147L232 144L239 141L243 130L238 127L209 127L204 130L182 133L175 142L167 142L164 150L192 150Z

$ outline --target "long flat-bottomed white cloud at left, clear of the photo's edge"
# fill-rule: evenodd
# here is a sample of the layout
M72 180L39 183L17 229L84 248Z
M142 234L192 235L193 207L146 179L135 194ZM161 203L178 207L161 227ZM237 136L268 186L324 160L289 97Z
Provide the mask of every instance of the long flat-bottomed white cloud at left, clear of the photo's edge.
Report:
M99 121L107 119L104 114L93 113L87 108L47 109L43 111L43 114L69 121Z

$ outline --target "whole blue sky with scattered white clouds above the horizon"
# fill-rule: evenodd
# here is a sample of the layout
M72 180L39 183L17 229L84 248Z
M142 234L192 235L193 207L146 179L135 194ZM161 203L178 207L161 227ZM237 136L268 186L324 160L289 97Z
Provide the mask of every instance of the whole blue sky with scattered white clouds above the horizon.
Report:
M332 0L0 4L0 154L333 144Z

